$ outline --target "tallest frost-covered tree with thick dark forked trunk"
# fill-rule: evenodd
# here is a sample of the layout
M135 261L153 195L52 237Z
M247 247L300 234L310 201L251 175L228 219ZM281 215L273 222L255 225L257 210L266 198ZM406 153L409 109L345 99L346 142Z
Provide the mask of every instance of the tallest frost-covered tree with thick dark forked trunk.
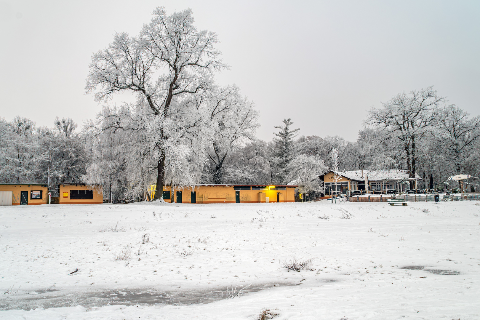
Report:
M199 129L207 123L199 110L204 103L195 103L195 95L208 90L213 73L226 65L218 59L216 34L197 30L192 10L167 15L164 8L157 7L152 14L152 21L138 36L116 34L108 48L92 56L86 93L95 93L97 101L122 91L137 94L133 122L148 129L143 136L153 159L148 164L155 165L147 169L156 171L155 198L161 198L164 183L192 183L191 175L183 176L187 180L178 179L180 172L186 172L184 166L199 155L192 149L186 152L185 146L197 144ZM141 135L133 136L135 140ZM136 156L144 156L142 152L139 148ZM177 156L183 158L172 158ZM170 177L167 168L173 172Z

